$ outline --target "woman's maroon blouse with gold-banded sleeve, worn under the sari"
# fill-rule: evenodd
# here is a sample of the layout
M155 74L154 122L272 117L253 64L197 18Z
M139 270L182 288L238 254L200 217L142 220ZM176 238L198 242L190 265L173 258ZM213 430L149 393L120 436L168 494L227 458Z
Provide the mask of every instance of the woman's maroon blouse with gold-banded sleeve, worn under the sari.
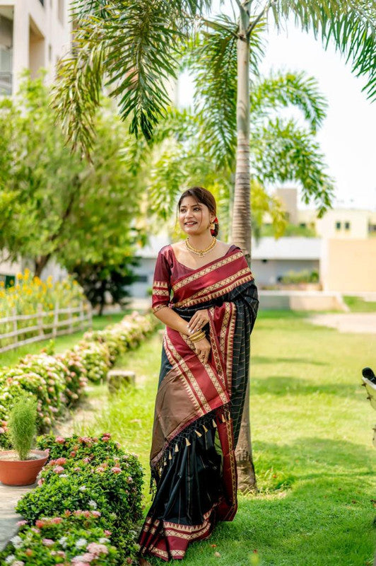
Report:
M208 267L211 263L216 263L222 258L225 258L230 252L234 250L240 250L238 246L232 244L226 253L212 260L201 267L187 267L177 261L174 250L172 246L163 246L158 252L157 262L155 263L154 277L153 277L153 294L152 294L152 310L153 313L159 311L160 308L165 306L174 306L176 299L170 297L172 286L181 277L189 275L189 272L195 272L202 270L203 267Z

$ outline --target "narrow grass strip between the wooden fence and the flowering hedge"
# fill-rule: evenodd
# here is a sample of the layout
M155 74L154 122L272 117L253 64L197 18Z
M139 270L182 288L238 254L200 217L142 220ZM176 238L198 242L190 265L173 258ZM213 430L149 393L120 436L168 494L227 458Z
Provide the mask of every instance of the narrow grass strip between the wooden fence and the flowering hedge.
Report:
M109 324L114 324L122 320L122 318L130 311L125 311L124 313L111 314L105 316L93 316L93 330L102 330L105 326ZM86 330L81 332L76 332L74 334L69 334L65 336L58 336L55 340L55 352L64 352L77 344L79 340L83 337ZM26 344L17 348L17 350L10 350L9 352L3 352L0 354L0 366L14 366L18 364L18 360L25 356L26 354L39 354L42 348L49 344L49 340L42 340L41 342L33 342L32 344Z

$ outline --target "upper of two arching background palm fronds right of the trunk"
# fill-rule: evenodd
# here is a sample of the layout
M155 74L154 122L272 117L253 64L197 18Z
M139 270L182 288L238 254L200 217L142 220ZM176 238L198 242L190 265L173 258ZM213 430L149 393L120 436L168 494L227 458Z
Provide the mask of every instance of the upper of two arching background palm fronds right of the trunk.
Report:
M253 81L250 98L251 115L256 117L289 105L300 108L312 132L317 131L326 117L327 101L320 93L316 79L305 72L271 73Z

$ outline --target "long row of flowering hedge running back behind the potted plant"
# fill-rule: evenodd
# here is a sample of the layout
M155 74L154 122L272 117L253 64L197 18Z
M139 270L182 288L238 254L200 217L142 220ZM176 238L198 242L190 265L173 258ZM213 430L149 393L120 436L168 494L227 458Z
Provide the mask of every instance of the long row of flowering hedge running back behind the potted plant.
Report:
M65 406L74 405L84 394L87 380L105 379L120 352L141 342L158 321L132 313L100 332L89 332L72 350L51 356L28 355L13 368L0 369L0 446L10 448L6 434L9 411L20 391L37 398L37 429L51 427Z

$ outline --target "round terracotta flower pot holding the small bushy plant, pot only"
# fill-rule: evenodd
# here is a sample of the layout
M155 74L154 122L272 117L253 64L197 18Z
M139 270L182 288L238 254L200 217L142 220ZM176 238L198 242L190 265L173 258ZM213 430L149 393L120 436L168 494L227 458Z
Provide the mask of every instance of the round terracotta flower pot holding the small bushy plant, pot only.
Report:
M45 466L48 452L45 450L30 450L30 460L11 460L16 455L14 450L0 451L0 482L4 485L31 485Z

